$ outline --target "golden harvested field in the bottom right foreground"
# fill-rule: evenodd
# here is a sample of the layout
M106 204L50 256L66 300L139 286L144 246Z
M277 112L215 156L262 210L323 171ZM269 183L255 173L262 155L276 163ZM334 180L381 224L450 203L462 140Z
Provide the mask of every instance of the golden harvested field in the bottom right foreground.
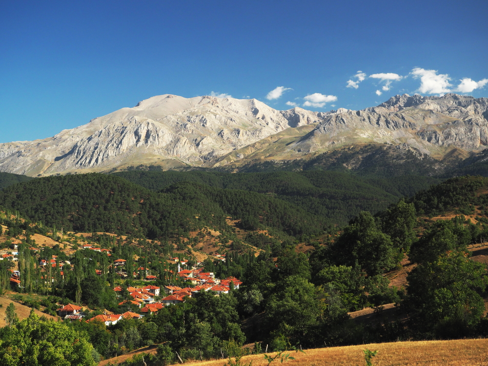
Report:
M375 366L471 366L488 365L488 339L463 339L453 341L420 341L380 343L360 346L308 349L305 354L292 352L296 360L288 366L364 366L364 349L378 350L373 358ZM263 355L243 357L241 364L266 366ZM223 366L225 360L194 362L192 366ZM273 364L280 364L277 360ZM272 364L272 365L273 365ZM281 364L280 364L281 365Z

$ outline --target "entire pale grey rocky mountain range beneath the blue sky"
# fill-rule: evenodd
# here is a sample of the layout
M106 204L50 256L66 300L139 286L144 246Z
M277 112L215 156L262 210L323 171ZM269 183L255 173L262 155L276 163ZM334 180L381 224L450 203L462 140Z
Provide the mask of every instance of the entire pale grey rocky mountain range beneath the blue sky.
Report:
M134 165L216 167L308 159L386 143L442 159L488 144L488 99L397 95L360 111L275 110L255 99L162 95L56 136L0 144L0 171L42 176ZM454 150L455 149L455 150ZM464 156L466 155L466 156Z

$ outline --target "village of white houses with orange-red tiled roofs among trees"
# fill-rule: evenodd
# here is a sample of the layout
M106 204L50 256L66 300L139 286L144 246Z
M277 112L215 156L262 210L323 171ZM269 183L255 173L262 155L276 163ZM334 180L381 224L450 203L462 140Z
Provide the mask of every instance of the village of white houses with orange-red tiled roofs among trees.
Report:
M39 252L38 248L30 247L30 251L35 255ZM100 248L93 244L82 244L80 249L89 249L95 252L105 253L107 257L111 257L112 253L110 249ZM11 244L11 248L0 250L0 260L11 261L13 263L18 262L19 251L18 244ZM221 257L219 255L219 257ZM223 256L225 257L225 255ZM224 258L218 258L225 262ZM110 264L109 268L113 269L114 273L122 280L121 285L117 285L113 288L118 299L122 300L119 305L130 305L127 307L128 311L122 314L114 314L110 311L103 311L103 314L96 315L90 319L85 319L85 315L89 313L86 307L66 304L61 305L57 309L57 315L65 321L100 321L106 326L115 325L123 318L129 319L142 319L146 315L157 313L165 306L182 304L186 298L191 298L199 291L211 291L215 296L221 294L227 294L229 291L239 289L242 282L235 277L227 277L225 279L216 278L213 272L204 272L202 262L196 262L187 269L189 261L181 257L168 256L168 261L175 263L175 271L168 270L169 274L174 278L179 279L179 283L183 282L187 284L186 287L180 287L177 285L165 285L163 289L159 286L153 285L154 281L158 280L158 277L152 275L149 268L138 267L137 271L132 272L132 277L137 279L140 274L143 274L143 281L148 285L135 287L125 286L123 281L128 279L127 274L127 260L119 258ZM43 275L41 278L47 282L48 273L53 273L58 270L61 279L64 278L63 267L69 266L69 270L73 271L74 267L70 261L60 261L58 256L52 255L51 258L43 258L39 260L39 267ZM18 267L18 266L17 266ZM182 269L182 267L184 269ZM51 270L49 270L51 269ZM10 272L10 285L12 289L21 291L22 289L22 274L19 269L9 269ZM97 276L102 276L100 269L95 269ZM51 282L54 282L54 276L51 276ZM128 296L123 296L123 294ZM129 298L127 298L129 297ZM137 308L137 312L132 311Z

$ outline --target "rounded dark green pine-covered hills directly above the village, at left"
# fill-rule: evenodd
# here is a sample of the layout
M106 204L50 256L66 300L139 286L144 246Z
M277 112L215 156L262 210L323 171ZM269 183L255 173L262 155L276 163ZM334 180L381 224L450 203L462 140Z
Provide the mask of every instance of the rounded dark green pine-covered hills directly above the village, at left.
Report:
M270 226L292 235L323 231L326 220L291 203L244 190L181 182L160 193L113 175L39 178L0 192L0 206L49 226L103 231L149 239L226 227L225 218ZM252 219L251 219L252 218Z

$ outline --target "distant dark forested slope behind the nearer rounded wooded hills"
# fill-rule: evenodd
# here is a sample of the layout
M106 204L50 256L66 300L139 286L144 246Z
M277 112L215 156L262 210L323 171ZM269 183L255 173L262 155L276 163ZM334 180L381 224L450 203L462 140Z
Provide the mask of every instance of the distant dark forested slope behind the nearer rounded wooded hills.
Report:
M346 224L360 211L375 213L384 210L399 198L411 196L440 182L419 176L362 178L334 171L230 174L132 170L114 175L153 191L160 191L177 182L194 182L226 190L263 193L322 216L329 224Z

